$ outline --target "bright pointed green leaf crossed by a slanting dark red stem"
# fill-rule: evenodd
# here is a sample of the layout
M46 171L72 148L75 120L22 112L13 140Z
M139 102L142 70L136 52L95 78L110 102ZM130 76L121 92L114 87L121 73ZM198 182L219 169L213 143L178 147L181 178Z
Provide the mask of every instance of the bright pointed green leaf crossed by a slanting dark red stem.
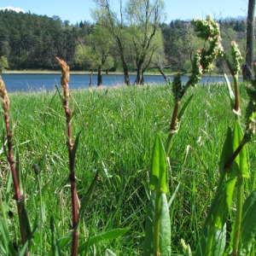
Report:
M233 152L235 152L236 148L239 147L242 138L243 138L243 134L241 131L241 126L239 125L239 122L236 121L235 128L234 128L234 135L233 135ZM250 177L246 146L241 148L240 153L236 156L235 163L237 164L239 169L239 174L242 177L247 177L247 178Z

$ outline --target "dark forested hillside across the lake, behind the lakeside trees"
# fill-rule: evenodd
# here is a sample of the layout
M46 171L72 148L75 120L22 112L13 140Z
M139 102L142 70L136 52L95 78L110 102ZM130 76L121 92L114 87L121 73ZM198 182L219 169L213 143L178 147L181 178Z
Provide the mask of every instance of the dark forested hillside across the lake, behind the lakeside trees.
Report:
M230 40L236 40L241 50L244 50L246 20L230 18L218 21L223 44L229 48ZM49 18L46 15L0 10L0 56L8 59L10 69L58 69L55 56L59 56L67 61L71 69L79 70L82 67L74 61L75 51L79 44L85 45L86 37L93 32L93 27L93 24L85 21L70 26L68 21L62 21L58 16ZM160 27L166 65L174 72L189 72L190 55L199 44L193 27L189 21L183 20L173 20ZM133 65L131 63L131 70ZM221 71L223 63L218 62L217 67Z

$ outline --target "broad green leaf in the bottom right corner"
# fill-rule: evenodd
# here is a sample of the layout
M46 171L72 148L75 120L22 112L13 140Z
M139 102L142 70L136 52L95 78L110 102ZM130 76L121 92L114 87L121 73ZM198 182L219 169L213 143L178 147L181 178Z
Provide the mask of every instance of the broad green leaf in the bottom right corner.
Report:
M247 255L251 251L256 234L256 189L247 197L242 207L242 212L239 255Z

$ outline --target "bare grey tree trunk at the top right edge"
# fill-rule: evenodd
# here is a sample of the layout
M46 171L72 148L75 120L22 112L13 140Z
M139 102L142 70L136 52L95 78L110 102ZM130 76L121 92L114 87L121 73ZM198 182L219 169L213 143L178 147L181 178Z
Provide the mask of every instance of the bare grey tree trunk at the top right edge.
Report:
M247 16L247 56L246 64L242 67L244 80L253 79L253 41L254 41L254 10L255 0L248 0Z

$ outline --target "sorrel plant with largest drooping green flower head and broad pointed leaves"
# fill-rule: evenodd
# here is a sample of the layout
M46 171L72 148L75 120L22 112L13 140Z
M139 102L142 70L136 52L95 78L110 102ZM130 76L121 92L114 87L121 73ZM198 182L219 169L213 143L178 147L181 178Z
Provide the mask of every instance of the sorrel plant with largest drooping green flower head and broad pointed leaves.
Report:
M190 87L195 86L200 81L203 73L212 69L212 62L216 60L218 52L222 50L218 24L211 20L210 16L207 17L207 20L192 20L192 24L195 26L195 32L198 32L198 37L207 41L209 46L207 49L196 52L192 63L192 73L186 84L182 84L179 73L173 79L174 108L166 145L165 147L162 145L159 136L156 137L154 143L149 176L149 188L152 190L152 194L148 204L144 255L171 255L170 205L166 199L168 194L167 157L172 150L172 139L178 132L179 121L192 99L192 96L190 96L187 102L184 103L183 108L180 108L184 94Z

